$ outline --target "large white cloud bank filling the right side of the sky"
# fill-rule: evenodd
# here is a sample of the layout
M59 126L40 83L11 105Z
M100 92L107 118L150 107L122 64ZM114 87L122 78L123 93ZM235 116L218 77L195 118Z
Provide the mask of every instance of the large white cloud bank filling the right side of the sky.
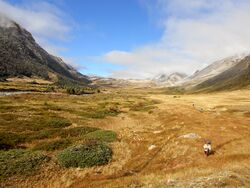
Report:
M159 12L161 39L132 51L113 50L102 58L124 65L121 78L146 78L161 72L191 74L215 60L250 51L247 0L142 1Z

